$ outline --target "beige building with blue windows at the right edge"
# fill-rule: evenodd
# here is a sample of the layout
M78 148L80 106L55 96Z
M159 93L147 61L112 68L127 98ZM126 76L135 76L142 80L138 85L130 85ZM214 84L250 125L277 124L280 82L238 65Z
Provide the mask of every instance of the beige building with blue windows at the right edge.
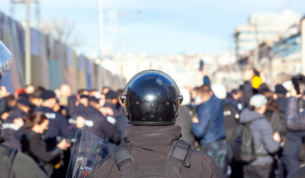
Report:
M264 72L270 87L305 73L305 28L302 25L305 26L304 18L301 23L298 21L291 25L276 38L259 43L257 67ZM238 59L240 69L254 68L255 60L253 49Z

